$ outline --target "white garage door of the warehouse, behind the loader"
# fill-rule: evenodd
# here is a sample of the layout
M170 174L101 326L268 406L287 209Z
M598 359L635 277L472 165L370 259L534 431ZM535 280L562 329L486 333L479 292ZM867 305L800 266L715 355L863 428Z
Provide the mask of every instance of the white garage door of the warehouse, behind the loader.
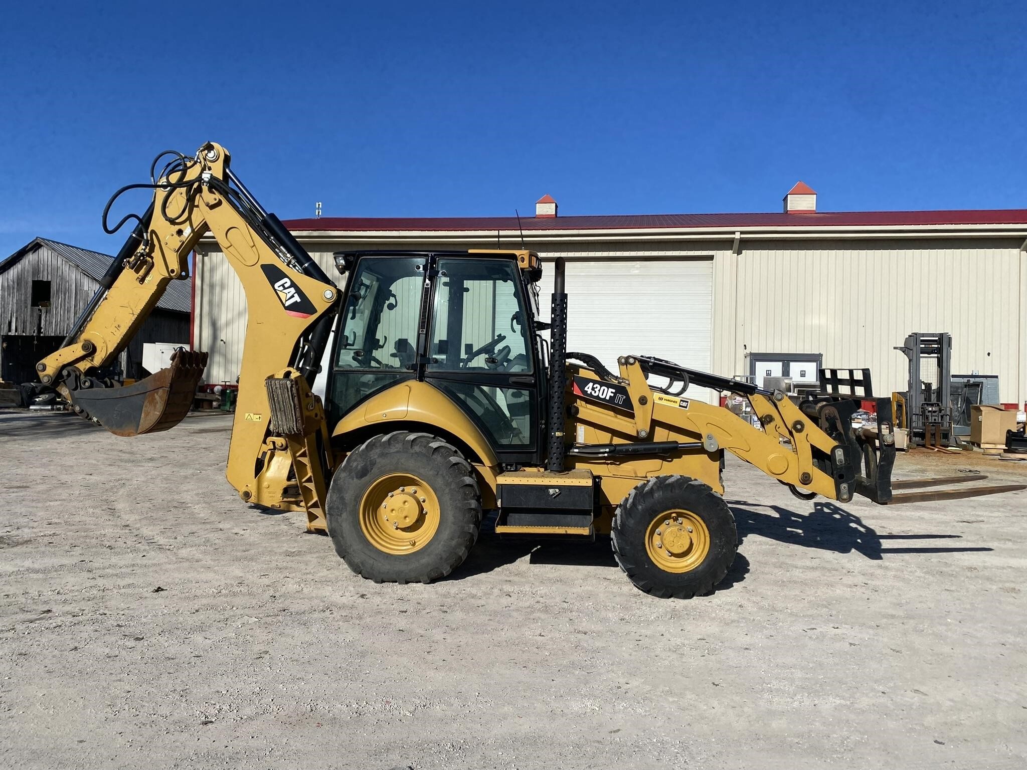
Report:
M542 319L549 318L553 261L540 281ZM617 356L667 358L713 368L713 260L567 261L567 349L591 353L613 372ZM705 388L689 388L710 400Z

